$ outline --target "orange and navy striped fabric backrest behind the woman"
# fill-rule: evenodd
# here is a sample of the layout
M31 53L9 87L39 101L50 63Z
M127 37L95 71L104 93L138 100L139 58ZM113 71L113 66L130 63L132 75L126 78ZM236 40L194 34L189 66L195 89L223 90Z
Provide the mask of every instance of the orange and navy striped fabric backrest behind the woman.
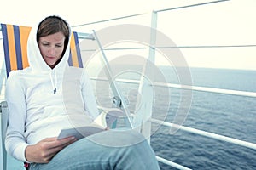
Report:
M15 26L1 24L3 34L3 50L6 65L7 77L9 71L21 70L28 66L26 43L31 31L29 26ZM68 64L76 67L83 67L81 53L79 49L78 33L73 31L70 42L71 53Z

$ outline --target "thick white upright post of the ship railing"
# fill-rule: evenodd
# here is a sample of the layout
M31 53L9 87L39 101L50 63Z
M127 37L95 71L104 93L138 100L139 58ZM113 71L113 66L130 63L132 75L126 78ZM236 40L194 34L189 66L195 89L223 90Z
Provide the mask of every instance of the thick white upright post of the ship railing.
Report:
M148 80L147 75L154 77L154 71L150 69L150 65L155 63L155 42L156 42L156 26L157 26L157 12L153 11L151 15L151 30L150 30L150 42L148 44L148 60L144 65L142 77L140 79L140 85L137 95L136 113L134 118L134 124L143 135L148 139L150 143L151 135L151 122L149 121L152 116L152 105L154 102L154 93L152 78ZM151 82L151 83L150 83Z

